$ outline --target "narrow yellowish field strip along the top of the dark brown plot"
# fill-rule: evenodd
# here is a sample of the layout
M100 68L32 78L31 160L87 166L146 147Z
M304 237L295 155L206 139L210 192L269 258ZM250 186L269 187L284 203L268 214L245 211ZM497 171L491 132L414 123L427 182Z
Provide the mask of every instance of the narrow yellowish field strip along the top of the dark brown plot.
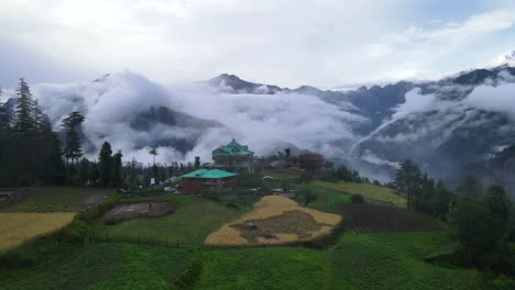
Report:
M374 186L371 183L353 183L343 181L328 182L321 180L313 181L309 186L311 189L322 188L343 194L359 193L371 203L386 203L399 208L406 207L406 199L396 194L392 189L386 187Z

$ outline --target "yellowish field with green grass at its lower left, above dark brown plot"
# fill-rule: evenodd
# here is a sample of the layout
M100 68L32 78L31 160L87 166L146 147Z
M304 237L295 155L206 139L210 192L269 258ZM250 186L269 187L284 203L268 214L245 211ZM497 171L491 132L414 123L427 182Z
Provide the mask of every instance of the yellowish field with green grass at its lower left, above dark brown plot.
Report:
M321 197L318 207L330 208L336 202L350 201L349 194L359 193L371 203L387 203L401 208L406 207L406 199L396 194L392 189L386 187L374 186L371 183L353 183L353 182L328 182L328 181L313 181L309 188ZM340 193L346 197L330 197L331 194ZM322 210L322 209L321 209Z

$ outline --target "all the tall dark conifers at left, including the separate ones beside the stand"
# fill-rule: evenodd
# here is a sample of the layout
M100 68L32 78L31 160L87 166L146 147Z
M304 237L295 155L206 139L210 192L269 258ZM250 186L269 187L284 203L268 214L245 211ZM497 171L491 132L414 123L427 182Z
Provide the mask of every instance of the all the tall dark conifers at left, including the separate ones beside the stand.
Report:
M122 154L112 154L109 143L102 145L98 161L84 158L79 129L85 116L80 112L63 120L63 146L23 78L17 96L14 108L0 104L0 187L123 185Z

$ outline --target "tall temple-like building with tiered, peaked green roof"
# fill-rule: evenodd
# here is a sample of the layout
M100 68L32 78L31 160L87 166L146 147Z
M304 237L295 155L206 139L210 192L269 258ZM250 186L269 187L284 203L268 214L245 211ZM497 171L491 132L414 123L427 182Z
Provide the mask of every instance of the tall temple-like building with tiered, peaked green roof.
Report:
M215 167L232 170L253 171L254 153L249 150L249 146L241 145L235 140L229 144L218 147L212 152Z

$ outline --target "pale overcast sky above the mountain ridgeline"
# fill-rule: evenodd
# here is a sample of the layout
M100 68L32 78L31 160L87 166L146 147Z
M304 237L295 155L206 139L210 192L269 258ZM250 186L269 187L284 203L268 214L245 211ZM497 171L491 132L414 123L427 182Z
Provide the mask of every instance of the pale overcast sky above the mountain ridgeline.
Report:
M515 49L514 24L512 0L0 0L0 83L437 78Z

